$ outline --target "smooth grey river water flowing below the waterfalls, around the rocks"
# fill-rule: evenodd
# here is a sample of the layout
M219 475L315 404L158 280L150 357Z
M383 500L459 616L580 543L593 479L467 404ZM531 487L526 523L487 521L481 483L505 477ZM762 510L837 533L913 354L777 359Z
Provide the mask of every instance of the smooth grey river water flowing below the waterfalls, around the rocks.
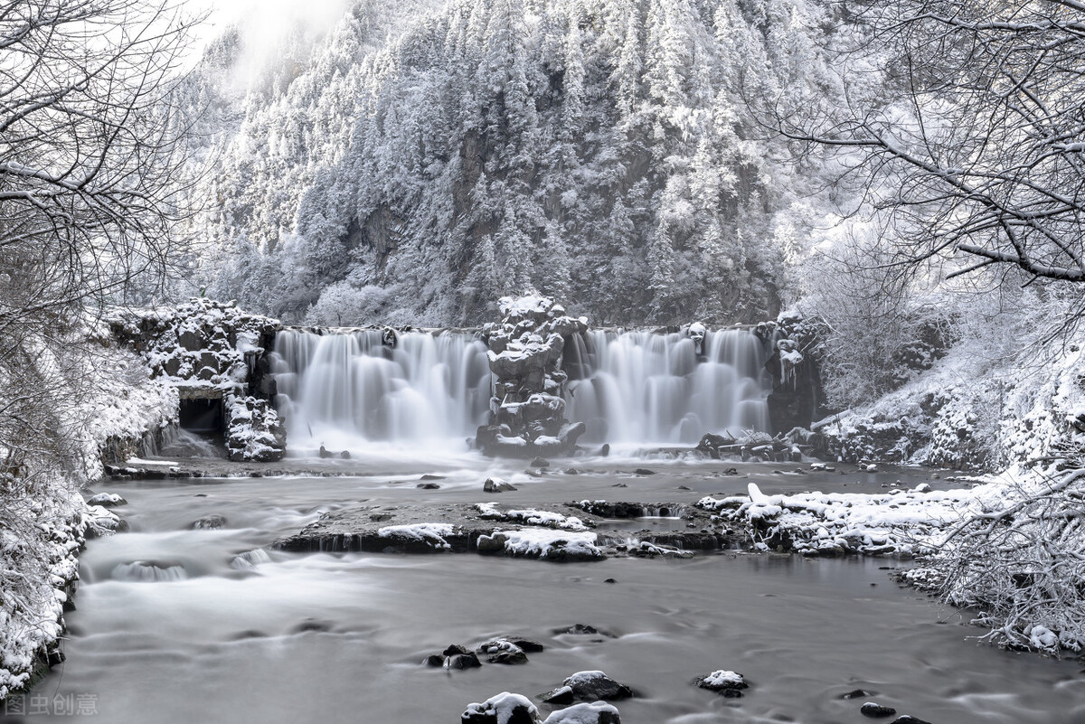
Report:
M935 724L1085 722L1080 662L978 645L960 612L894 584L883 570L901 565L893 560L724 553L561 565L271 552L251 556L255 570L231 566L359 500L486 500L488 475L519 486L502 503L529 504L692 503L751 480L766 493L880 491L927 473L799 476L774 474L778 465L596 458L576 461L579 475L536 479L467 455L354 464L368 471L103 486L129 501L119 512L132 531L90 542L78 610L67 617L67 661L31 695L39 708L48 699L51 713L28 721L69 721L64 702L81 697L98 721L115 724L435 724L457 722L468 703L500 691L534 696L601 669L640 695L618 702L625 724L859 723L869 721L858 712L868 698ZM630 475L644 466L658 475ZM725 475L728 467L740 475ZM442 489L418 489L421 474L444 476ZM190 528L206 515L227 523ZM615 637L553 633L574 623ZM449 644L510 633L547 648L522 667L420 664ZM752 688L724 699L690 685L715 669L743 673ZM877 694L840 698L856 688Z

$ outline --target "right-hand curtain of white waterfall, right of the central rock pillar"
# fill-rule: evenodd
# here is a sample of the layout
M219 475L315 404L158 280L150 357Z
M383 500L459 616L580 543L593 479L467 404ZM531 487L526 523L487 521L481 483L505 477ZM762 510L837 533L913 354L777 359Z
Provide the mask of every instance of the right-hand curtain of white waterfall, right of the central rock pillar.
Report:
M587 425L585 442L695 443L705 432L768 430L770 385L757 337L709 332L703 352L685 334L578 335L566 346L566 416Z

